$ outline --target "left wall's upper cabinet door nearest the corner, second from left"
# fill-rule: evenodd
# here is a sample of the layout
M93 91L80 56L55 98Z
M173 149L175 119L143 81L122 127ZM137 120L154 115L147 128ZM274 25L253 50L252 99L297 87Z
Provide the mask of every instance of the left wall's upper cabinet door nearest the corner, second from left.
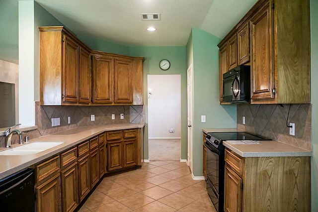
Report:
M90 103L91 99L90 56L85 49L79 49L79 102Z

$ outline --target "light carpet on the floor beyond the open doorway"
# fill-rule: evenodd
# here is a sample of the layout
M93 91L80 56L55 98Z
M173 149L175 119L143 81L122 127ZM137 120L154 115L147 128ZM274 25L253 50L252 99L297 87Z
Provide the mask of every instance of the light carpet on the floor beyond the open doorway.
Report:
M149 160L180 161L181 139L149 139Z

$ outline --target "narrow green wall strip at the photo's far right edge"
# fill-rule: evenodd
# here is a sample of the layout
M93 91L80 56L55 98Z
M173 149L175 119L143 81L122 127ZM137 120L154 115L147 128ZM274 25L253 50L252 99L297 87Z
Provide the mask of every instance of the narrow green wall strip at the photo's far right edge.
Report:
M312 212L318 212L318 0L311 0Z

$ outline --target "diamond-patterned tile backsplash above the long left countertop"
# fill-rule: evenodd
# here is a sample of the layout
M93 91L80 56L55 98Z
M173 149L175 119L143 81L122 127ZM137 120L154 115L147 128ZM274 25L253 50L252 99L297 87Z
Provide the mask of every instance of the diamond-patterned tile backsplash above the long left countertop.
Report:
M35 103L35 124L38 129L24 132L30 139L42 135L72 129L77 126L93 126L115 123L143 123L143 106L40 106ZM115 119L111 119L111 114ZM124 119L120 119L124 113ZM95 115L95 121L90 120L90 115ZM71 124L68 124L71 116ZM52 126L51 119L60 117L60 126ZM12 135L12 144L19 142L19 136ZM4 136L0 136L0 147L4 146Z

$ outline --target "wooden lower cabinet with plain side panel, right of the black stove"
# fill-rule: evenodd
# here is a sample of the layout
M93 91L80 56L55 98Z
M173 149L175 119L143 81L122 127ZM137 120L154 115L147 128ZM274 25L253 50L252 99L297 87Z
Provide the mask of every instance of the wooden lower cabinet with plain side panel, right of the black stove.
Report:
M226 212L310 212L311 157L240 157L225 151Z

